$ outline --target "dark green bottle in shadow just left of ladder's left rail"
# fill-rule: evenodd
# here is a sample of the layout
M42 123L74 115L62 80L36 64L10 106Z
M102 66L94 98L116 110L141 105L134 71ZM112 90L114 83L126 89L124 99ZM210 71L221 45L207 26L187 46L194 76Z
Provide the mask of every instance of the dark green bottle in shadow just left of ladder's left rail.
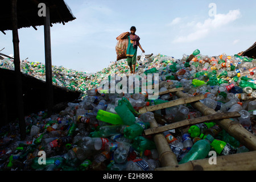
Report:
M131 146L137 152L144 152L145 150L151 150L153 148L156 148L155 142L142 136L135 137Z

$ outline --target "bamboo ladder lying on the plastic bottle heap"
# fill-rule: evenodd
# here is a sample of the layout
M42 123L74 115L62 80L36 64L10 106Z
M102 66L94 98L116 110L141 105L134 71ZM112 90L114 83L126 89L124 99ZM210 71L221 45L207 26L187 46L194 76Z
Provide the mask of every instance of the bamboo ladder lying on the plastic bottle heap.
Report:
M175 92L177 97L176 101L166 102L155 106L143 107L139 112L145 113L147 111L154 111L171 107L180 104L191 103L191 105L199 110L204 116L195 119L185 119L170 125L158 127L158 123L153 119L150 123L150 129L144 130L145 135L154 134L154 142L156 149L159 152L159 161L161 163L160 168L156 168L156 171L183 171L183 170L255 170L256 169L256 137L249 131L244 129L240 123L233 123L229 118L240 117L238 112L230 113L216 113L215 110L202 104L199 100L203 99L198 96L192 100L192 97L188 97L187 93L183 93L180 90L170 89L171 92ZM168 92L169 90L165 91ZM159 93L162 94L162 93ZM163 131L175 129L181 126L193 125L196 123L202 123L205 121L214 121L217 125L227 131L232 137L236 138L240 143L246 146L250 152L242 154L233 154L227 156L218 156L217 165L210 165L208 159L193 160L184 164L178 164L176 155L172 152L166 138L162 134ZM242 166L242 167L241 167ZM244 167L245 166L245 167Z

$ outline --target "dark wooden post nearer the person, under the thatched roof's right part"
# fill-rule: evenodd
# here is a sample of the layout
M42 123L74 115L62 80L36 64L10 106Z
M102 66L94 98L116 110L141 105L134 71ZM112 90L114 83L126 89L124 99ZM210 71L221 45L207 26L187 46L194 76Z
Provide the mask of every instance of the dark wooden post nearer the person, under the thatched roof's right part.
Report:
M52 57L51 57L51 30L50 30L49 7L46 6L46 16L44 17L44 51L46 57L46 96L48 117L52 115L53 88L52 88Z

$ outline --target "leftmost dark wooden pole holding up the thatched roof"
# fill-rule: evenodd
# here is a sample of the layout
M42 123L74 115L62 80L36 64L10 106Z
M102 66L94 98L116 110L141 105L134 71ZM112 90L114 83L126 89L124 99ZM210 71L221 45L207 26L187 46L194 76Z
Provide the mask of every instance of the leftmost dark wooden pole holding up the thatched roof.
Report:
M22 77L20 73L20 57L19 57L19 35L18 35L18 18L17 18L17 0L11 1L11 18L13 22L13 47L14 47L14 71L16 83L16 98L18 106L20 139L26 137L26 123L24 119L24 105L22 94Z

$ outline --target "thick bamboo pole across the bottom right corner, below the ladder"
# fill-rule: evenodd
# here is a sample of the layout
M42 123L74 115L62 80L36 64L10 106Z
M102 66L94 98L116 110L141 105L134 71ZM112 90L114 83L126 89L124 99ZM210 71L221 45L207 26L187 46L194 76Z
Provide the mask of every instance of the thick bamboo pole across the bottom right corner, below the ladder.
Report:
M155 171L255 171L256 151L217 156L216 164L210 164L209 161L213 162L213 159L191 160L184 164L159 167Z

